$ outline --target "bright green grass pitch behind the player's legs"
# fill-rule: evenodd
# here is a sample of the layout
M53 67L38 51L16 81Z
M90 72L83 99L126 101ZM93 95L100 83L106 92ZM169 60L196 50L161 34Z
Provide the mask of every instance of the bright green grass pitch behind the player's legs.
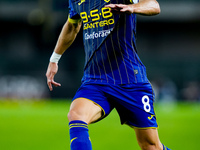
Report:
M69 101L0 100L0 150L69 150ZM197 150L200 104L155 104L161 141L172 150ZM94 150L139 150L134 130L116 111L89 126Z

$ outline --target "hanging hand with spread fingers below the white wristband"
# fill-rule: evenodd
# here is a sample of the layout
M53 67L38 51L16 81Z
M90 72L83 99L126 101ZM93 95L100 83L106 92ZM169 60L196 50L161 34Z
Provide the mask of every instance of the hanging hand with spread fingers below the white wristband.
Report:
M53 90L52 85L54 85L55 87L61 86L60 83L57 83L57 82L54 81L54 76L57 73L57 71L58 71L58 64L50 62L49 66L47 68L47 72L46 72L47 85L48 85L50 91Z

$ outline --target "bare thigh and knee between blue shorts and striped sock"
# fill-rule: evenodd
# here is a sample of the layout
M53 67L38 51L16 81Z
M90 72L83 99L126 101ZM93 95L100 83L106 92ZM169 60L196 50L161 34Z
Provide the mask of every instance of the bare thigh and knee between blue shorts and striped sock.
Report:
M77 98L72 101L68 113L69 121L82 120L88 124L102 116L102 109L93 101L86 98Z

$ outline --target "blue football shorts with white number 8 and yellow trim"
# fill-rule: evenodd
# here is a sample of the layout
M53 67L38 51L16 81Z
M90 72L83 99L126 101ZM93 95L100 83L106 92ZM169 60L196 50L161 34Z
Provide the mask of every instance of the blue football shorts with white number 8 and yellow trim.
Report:
M150 83L112 85L108 83L83 83L73 100L86 98L102 109L103 119L114 108L121 124L136 128L157 128L153 107L154 92ZM97 120L97 121L99 121Z

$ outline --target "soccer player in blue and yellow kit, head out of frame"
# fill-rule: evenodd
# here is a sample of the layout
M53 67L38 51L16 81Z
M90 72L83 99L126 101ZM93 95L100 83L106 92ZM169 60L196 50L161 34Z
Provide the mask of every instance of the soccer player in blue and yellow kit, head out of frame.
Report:
M82 85L68 113L71 150L91 150L88 125L115 108L121 124L135 130L142 150L168 150L161 144L154 112L154 92L137 54L136 14L156 15L156 0L69 0L69 18L47 69L49 89L58 61L83 26L85 67Z

